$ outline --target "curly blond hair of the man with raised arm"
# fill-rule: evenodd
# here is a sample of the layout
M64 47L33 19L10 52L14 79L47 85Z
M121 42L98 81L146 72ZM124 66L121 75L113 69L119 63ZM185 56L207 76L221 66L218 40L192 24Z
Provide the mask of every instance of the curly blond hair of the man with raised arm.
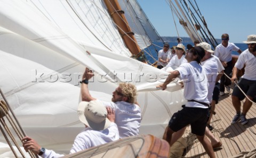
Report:
M124 94L124 96L126 96L128 98L128 100L126 102L129 103L135 103L136 102L136 98L137 98L137 88L135 85L131 84L131 83L120 83L119 87L122 90L122 93Z

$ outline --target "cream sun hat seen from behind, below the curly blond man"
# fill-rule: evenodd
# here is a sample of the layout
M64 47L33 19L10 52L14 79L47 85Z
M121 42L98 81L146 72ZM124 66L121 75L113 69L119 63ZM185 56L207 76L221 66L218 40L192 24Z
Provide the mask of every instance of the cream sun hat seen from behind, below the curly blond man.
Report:
M107 109L98 100L80 102L77 113L79 120L94 130L103 130L110 125Z

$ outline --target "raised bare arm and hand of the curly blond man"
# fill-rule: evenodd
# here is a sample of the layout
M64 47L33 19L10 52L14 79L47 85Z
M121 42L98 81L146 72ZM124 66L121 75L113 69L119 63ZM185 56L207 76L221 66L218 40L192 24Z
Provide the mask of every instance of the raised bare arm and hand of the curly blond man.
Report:
M93 75L94 75L93 71L86 67L82 80L85 80L85 79L90 80L90 78L92 78ZM88 89L88 84L82 83L82 85L81 85L81 95L82 95L82 101L96 100L95 98L93 98L91 96L91 94L89 92L89 89Z

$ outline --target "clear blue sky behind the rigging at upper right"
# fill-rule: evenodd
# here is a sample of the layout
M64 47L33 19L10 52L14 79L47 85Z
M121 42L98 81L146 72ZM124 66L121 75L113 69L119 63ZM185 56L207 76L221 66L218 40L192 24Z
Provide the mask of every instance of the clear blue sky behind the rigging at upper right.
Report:
M178 36L166 0L137 1L160 36ZM222 33L228 33L229 42L242 43L249 34L256 34L255 0L197 0L196 3L214 38L220 39ZM188 37L175 15L174 19L180 37Z

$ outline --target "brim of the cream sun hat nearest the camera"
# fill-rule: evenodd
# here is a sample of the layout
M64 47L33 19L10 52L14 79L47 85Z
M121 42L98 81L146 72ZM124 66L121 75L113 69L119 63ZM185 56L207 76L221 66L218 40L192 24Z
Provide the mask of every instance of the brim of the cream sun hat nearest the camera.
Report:
M86 108L86 106L89 104L89 102L87 101L82 101L78 104L78 109L77 109L77 113L78 113L78 118L79 120L85 124L88 127L91 127L92 129L95 130L103 130L106 129L110 126L110 121L108 118L106 118L106 120L100 122L99 124L91 121L90 119L87 119L84 115L84 109Z

